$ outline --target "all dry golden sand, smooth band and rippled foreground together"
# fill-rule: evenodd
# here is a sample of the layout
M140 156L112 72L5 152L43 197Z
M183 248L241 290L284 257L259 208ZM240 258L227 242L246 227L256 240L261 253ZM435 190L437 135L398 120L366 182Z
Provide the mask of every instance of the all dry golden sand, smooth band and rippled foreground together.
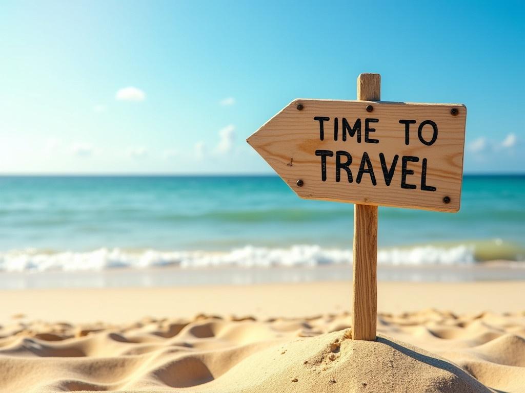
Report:
M382 282L375 342L349 283L1 291L0 391L525 392L524 289Z

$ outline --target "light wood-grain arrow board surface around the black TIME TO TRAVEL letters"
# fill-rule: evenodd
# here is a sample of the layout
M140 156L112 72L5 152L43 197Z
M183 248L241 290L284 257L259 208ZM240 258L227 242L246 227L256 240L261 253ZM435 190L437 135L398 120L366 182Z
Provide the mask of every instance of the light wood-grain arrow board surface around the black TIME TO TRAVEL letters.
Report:
M365 77L379 79L379 77ZM364 78L363 78L364 79ZM358 91L366 93L364 80L358 85ZM302 110L297 105L302 105ZM366 106L372 105L373 111L367 112ZM458 110L451 115L452 108ZM324 124L324 139L320 140L319 121L314 117L329 117ZM339 119L339 138L334 140L334 121ZM355 119L377 118L379 123L372 123L376 129L370 136L379 139L379 143L361 143L356 137L342 140L342 117L354 124ZM411 125L409 145L405 145L405 126L400 119L414 119ZM431 119L438 126L438 136L432 146L422 144L418 139L417 125ZM461 104L411 104L379 101L331 101L297 99L272 117L256 133L248 138L248 143L269 163L279 176L301 198L339 202L351 202L367 205L385 205L402 208L425 209L444 212L456 212L460 206L461 179L463 174L463 150L465 143L466 107ZM432 137L432 128L426 126L423 136ZM353 182L342 175L339 182L335 179L335 157L327 158L327 179L321 180L321 158L316 150L344 150L351 154ZM369 174L364 173L361 183L356 182L363 153L367 152L374 169L376 185L372 184ZM390 185L386 185L381 168L380 153L390 165L398 155L397 165ZM406 177L406 183L415 184L416 189L401 188L402 156L415 156L418 162L409 162L408 169L414 171ZM436 191L424 191L420 183L422 178L422 160L427 159L426 184L436 187ZM303 180L303 186L297 186L297 180ZM445 196L450 199L444 203Z

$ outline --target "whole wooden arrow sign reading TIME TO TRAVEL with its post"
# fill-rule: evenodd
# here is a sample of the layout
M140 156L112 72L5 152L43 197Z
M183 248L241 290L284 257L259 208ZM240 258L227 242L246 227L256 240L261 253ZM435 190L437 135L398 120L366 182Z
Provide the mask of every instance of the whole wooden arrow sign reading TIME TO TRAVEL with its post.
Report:
M361 74L358 101L294 100L247 139L301 198L355 204L355 340L376 337L377 206L457 212L461 200L465 105L380 91L379 74Z

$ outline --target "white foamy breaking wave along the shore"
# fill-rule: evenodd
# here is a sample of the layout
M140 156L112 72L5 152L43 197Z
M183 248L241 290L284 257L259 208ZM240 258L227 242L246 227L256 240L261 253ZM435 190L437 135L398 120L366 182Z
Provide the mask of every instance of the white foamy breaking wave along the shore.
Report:
M99 248L90 252L42 252L12 250L0 253L0 271L81 271L112 268L149 268L173 266L181 269L210 267L315 267L343 265L352 261L352 250L324 249L316 245L289 248L245 246L230 252L124 250ZM475 247L433 245L411 248L380 249L381 265L472 265L476 263Z

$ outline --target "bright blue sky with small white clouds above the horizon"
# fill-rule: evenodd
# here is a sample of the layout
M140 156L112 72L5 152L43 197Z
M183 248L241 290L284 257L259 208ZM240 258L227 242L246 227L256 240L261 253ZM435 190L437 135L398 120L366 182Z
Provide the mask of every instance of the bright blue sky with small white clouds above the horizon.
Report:
M1 173L272 173L297 97L468 107L465 172L525 171L520 2L0 4Z

